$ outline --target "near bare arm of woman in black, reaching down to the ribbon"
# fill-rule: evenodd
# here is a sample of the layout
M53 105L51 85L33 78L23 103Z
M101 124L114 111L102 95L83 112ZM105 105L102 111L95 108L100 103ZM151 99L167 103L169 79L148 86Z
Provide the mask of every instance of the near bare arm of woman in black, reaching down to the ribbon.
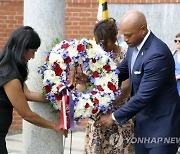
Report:
M43 128L53 129L65 136L67 135L67 131L59 130L55 123L42 118L29 108L26 96L18 79L7 82L4 85L4 90L10 102L24 120Z

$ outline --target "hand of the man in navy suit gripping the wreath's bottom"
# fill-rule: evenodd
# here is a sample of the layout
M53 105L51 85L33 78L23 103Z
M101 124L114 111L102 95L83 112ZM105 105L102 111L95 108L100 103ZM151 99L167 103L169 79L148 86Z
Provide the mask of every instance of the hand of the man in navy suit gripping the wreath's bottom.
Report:
M99 120L94 123L95 127L102 126L102 127L109 127L114 123L112 119L112 114L106 114L100 116Z

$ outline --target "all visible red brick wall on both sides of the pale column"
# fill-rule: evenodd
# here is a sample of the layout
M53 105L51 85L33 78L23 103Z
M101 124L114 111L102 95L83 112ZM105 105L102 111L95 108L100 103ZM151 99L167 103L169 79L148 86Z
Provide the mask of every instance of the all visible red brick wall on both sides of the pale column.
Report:
M24 0L0 0L0 49L10 33L23 24ZM180 0L107 0L109 4L142 4L142 3L179 3ZM93 37L93 27L96 21L98 0L66 0L65 38ZM16 111L12 130L22 128L22 119ZM79 129L84 129L85 122Z

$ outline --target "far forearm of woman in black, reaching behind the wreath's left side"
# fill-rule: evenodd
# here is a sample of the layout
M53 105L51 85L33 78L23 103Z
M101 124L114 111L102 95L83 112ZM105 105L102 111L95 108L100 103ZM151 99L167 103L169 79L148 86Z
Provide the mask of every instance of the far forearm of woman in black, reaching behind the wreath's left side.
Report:
M35 101L35 102L47 102L46 96L39 92L30 91L24 83L24 95L28 101Z

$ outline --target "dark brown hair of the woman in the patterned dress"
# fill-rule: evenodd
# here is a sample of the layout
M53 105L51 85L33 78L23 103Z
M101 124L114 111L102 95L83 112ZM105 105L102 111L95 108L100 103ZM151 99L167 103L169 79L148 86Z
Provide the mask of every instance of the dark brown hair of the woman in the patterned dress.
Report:
M117 41L117 34L118 29L114 18L101 20L94 27L96 42L104 46L107 45L108 39L115 43Z

